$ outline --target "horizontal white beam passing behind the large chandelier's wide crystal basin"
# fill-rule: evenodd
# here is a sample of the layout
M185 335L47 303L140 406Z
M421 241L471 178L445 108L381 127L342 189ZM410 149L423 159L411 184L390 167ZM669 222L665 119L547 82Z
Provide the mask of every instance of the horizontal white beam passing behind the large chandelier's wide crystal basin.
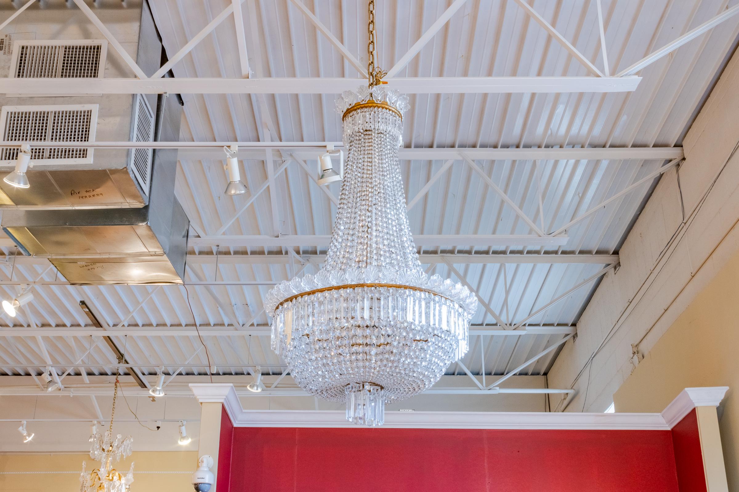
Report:
M197 330L194 326L162 328L160 326L126 327L120 329L95 329L89 326L72 327L35 327L0 329L0 338L14 336L270 336L268 325L259 325L236 329L231 326L202 326ZM576 327L569 325L525 325L515 330L506 330L495 325L471 325L470 336L522 336L522 335L569 335L576 333ZM154 364L159 365L159 364ZM181 365L181 364L171 364ZM34 367L34 364L18 364L23 367Z

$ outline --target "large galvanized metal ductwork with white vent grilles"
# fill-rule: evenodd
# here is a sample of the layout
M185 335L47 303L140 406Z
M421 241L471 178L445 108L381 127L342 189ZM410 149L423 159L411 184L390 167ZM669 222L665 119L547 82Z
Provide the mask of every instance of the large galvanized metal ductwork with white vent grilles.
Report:
M158 69L163 47L146 2L99 1L95 13L117 27L113 34L124 46L136 44L137 64L144 72ZM86 38L89 21L76 7L67 7L64 0L47 1L43 10L29 14L25 18L33 24L24 26L21 17L11 25L18 33L33 30L33 42L13 32L0 33L13 43L10 59L0 56L0 70L7 69L11 77L63 77L61 70L69 71L75 63L80 66L72 69L74 77L84 72L82 66L90 77L129 76L114 53L106 56L104 41ZM106 18L115 22L106 23ZM54 38L53 27L60 22L69 26L64 37L70 39ZM44 66L45 60L55 62ZM52 140L177 140L182 113L177 97L7 94L0 102L0 138L28 142L32 150L30 187L0 181L2 229L24 254L48 257L75 284L182 283L189 221L174 196L177 150L93 153L33 145ZM17 151L0 148L2 175L13 170Z

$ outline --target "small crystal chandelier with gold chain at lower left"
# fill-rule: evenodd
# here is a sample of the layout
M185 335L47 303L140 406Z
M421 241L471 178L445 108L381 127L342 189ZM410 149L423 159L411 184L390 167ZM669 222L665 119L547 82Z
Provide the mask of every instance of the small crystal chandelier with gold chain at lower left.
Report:
M113 392L113 412L110 416L110 426L105 434L98 432L98 423L92 423L90 435L90 457L100 462L100 467L87 473L86 462L82 462L80 474L80 492L129 492L131 482L134 481L134 464L131 463L129 472L124 476L113 468L113 463L131 455L133 437L123 437L118 434L113 439L113 417L115 416L115 400L118 398L118 375L115 376L115 390Z

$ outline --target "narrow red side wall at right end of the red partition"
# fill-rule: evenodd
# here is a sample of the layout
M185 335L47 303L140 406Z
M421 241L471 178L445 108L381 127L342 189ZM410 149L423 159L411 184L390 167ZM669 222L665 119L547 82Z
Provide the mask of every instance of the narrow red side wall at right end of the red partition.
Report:
M695 409L672 427L672 447L675 449L680 492L706 492L706 472Z

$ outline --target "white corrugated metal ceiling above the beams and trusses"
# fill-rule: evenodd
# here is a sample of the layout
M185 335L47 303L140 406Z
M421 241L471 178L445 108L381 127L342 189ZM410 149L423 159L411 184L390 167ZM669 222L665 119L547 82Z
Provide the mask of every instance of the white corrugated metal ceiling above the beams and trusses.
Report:
M150 1L157 28L168 53L177 52L230 2ZM364 63L366 60L366 4L352 0L305 0L309 10ZM412 46L449 7L449 0L378 0L379 60L387 68ZM596 1L536 0L529 2L596 66L602 67ZM736 1L726 0L603 0L605 41L611 72L623 69L684 32L721 13ZM247 0L244 22L250 64L259 77L357 77L341 54L287 0ZM530 148L530 147L670 147L680 145L707 92L721 75L723 63L735 49L739 17L723 22L707 34L658 60L639 75L638 89L622 93L557 94L415 94L404 131L412 148ZM224 22L174 66L176 77L239 77L239 55L232 22ZM475 76L586 76L587 69L535 24L512 0L469 0L408 66L405 77ZM334 96L279 94L186 94L182 139L194 141L259 141L267 137L262 117L273 131L272 139L338 141L341 121L333 111ZM262 114L258 106L264 105ZM255 111L256 108L256 111ZM276 153L277 164L289 156ZM658 169L663 160L578 161L478 161L532 221L552 232L572 218L601 203L630 184ZM404 161L406 195L414 197L443 166L443 161ZM308 162L312 168L314 162ZM267 164L242 162L242 173L251 190L268 180ZM250 207L228 224L250 199L223 195L225 173L221 161L182 160L177 175L177 195L199 232L214 235L225 226L225 235L327 235L336 206L307 176L290 162ZM623 195L600 212L568 229L564 246L423 246L424 254L614 254L636 220L655 182L649 180ZM338 195L338 184L328 190ZM542 201L539 207L539 190ZM273 206L272 200L276 201ZM276 212L276 215L275 213ZM543 214L541 213L543 212ZM480 180L463 161L454 162L428 193L409 210L412 231L418 235L521 235L531 231L514 209ZM10 249L7 249L10 252ZM321 254L316 247L286 249L263 247L219 248L218 271L214 248L191 248L206 255L190 262L190 280L280 281L301 268L297 259L270 263L265 254ZM230 261L229 255L254 255L250 261ZM317 268L311 260L304 271ZM466 282L475 288L492 311L515 325L576 325L596 280L571 292L561 302L527 319L540 307L567 293L605 264L597 263L456 263ZM446 263L428 264L435 272L454 277ZM13 266L13 258L1 263L7 278L55 280L46 266ZM264 327L262 297L269 285L189 286L189 300L197 324L239 329ZM4 285L12 297L16 287ZM190 327L192 317L185 288L163 286L146 299L154 287L73 287L38 285L35 301L16 319L4 316L4 327L86 327L90 322L78 307L85 299L106 325L115 327ZM145 300L146 299L146 300ZM219 299L220 305L217 303ZM144 302L145 301L145 302ZM126 316L143 304L129 317ZM497 325L480 306L474 325ZM253 329L253 327L251 327ZM463 364L472 373L504 374L545 347L562 339L562 333L521 336L473 336ZM265 373L282 373L282 361L269 348L268 336L205 336L211 361L223 373L242 373L229 364L262 364ZM44 336L54 364L78 359L89 348L90 337ZM44 348L33 336L6 336L0 344L2 373L27 374L25 368L44 363ZM129 362L206 364L197 336L117 337L126 347ZM192 357L192 358L191 358ZM522 374L543 374L556 351L528 365ZM109 373L115 356L106 344L98 344L86 364L99 367L89 373ZM13 368L9 366L14 366ZM174 367L177 369L177 367ZM205 370L185 369L197 374ZM72 370L77 374L79 370ZM452 364L450 374L462 373Z

